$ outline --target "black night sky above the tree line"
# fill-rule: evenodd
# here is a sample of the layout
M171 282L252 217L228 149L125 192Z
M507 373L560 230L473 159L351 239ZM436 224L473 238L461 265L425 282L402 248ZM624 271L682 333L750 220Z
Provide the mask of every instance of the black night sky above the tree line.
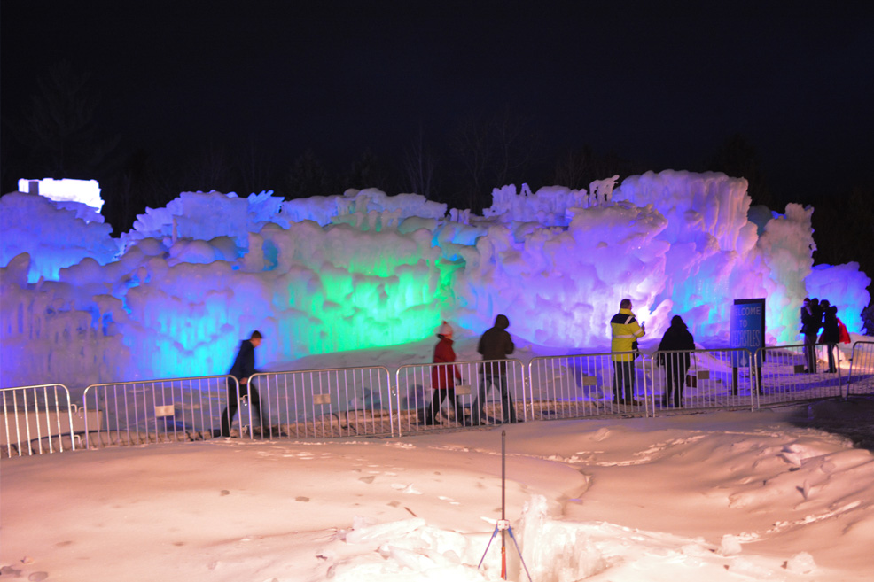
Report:
M870 11L418 4L3 0L2 115L19 116L66 59L93 75L100 126L129 150L251 140L289 159L393 157L420 128L439 141L510 107L551 159L588 144L685 169L740 133L781 198L871 182ZM4 191L42 177L6 169Z

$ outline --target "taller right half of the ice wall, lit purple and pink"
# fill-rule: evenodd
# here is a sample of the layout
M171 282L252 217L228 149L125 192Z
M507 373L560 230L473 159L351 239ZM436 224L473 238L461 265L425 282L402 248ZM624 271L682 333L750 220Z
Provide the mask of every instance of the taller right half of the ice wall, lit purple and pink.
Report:
M459 320L482 329L504 313L514 333L536 344L604 345L607 321L628 297L651 338L680 314L696 336L727 343L733 300L764 297L769 342L794 343L813 266L813 209L787 206L760 237L747 220L746 186L718 173L630 176L613 191L612 203L568 209L567 229L527 222L536 198L496 190L501 227L460 249L441 237L444 252L464 259L453 285ZM579 202L584 195L571 196ZM551 202L542 208L555 210ZM869 283L858 266L840 275L846 287L831 300L849 304L844 313L854 313L850 321L858 328Z

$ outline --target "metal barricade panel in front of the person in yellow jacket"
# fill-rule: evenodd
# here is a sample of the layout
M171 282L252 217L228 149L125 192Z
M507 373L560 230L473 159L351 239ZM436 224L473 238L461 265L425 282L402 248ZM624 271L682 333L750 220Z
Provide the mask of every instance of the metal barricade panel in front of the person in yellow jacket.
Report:
M622 360L613 361L613 356ZM646 414L645 364L639 356L622 352L533 358L528 363L532 417L550 420ZM623 398L626 384L630 399Z

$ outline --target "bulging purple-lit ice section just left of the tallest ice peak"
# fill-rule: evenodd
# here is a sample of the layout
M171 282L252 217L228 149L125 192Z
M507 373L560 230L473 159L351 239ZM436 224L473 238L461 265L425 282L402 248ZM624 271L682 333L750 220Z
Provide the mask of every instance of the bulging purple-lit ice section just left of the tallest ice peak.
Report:
M513 333L538 345L604 345L623 297L634 299L644 321L658 310L670 245L656 237L665 228L652 206L626 202L575 209L567 229L488 227L458 250L458 322L484 330L503 313Z

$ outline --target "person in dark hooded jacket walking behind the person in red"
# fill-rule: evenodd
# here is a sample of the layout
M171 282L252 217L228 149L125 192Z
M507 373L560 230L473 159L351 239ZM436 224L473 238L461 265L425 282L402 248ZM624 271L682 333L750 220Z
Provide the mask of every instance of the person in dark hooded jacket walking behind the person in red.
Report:
M513 339L510 337L510 332L507 331L509 327L510 320L507 319L507 316L503 314L498 315L495 318L495 326L482 334L480 344L477 346L477 352L482 354L482 359L487 362L482 364L482 369L480 370L480 398L471 408L473 424L481 424L486 415L486 392L488 392L489 384L499 388L501 391L503 422L517 422L516 407L513 404L510 392L507 391L507 362L494 361L506 360L507 356L513 353L513 350L516 348L513 345Z

